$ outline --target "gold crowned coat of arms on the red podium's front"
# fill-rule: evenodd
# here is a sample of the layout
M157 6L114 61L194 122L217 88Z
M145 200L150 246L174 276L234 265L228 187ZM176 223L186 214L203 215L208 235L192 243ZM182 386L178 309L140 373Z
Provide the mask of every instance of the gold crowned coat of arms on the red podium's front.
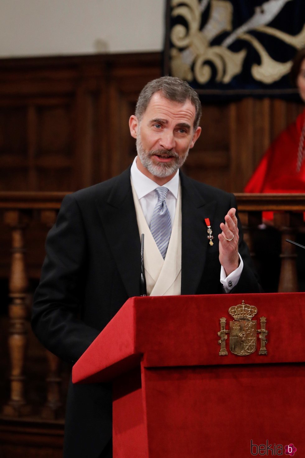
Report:
M220 356L227 355L226 340L230 334L230 351L238 356L246 356L254 353L256 350L256 334L259 334L261 340L261 349L259 354L266 355L266 317L261 316L261 329L256 329L257 322L252 318L256 315L257 308L254 305L245 304L244 300L241 304L233 305L229 308L229 314L233 316L234 321L230 321L230 330L226 329L227 318L220 318L220 331L218 336L218 344L220 344Z

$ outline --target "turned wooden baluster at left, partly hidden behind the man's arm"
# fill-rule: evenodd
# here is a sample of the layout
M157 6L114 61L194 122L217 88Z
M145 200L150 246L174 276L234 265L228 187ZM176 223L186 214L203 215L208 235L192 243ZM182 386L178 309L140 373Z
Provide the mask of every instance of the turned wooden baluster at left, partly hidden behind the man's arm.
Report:
M43 210L40 213L40 221L50 229L56 220L55 210ZM61 401L61 376L60 360L48 350L45 350L48 362L48 375L46 378L47 401L41 410L41 417L45 420L56 420L63 415Z

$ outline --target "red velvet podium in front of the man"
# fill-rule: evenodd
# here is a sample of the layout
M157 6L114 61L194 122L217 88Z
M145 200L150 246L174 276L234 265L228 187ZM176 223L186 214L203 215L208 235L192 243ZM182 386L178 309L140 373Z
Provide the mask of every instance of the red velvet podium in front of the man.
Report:
M242 300L257 307L257 329L266 317L267 354L259 334L255 353L233 354L227 334L220 356L220 318L229 329L228 309ZM114 458L289 456L291 443L301 457L304 324L304 293L134 297L72 380L113 380Z

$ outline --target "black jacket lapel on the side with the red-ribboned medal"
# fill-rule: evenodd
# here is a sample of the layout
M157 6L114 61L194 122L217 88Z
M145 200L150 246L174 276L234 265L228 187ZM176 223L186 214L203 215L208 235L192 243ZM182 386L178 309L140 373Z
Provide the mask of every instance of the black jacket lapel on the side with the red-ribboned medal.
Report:
M207 240L205 218L209 218L213 228L213 218L217 202L206 202L190 180L180 172L182 187L182 255L181 255L181 294L196 294L205 267ZM216 228L215 228L216 229ZM218 231L214 232L214 241Z

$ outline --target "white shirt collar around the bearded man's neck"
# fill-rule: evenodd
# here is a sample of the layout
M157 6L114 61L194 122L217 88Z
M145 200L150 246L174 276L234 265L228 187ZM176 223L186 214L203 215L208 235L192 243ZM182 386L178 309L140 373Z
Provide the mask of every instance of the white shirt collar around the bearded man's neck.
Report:
M154 191L160 185L155 183L155 181L150 180L146 175L144 175L137 167L137 157L133 159L133 164L130 169L130 176L133 182L134 189L137 193L138 199L149 194L151 191ZM179 170L172 177L171 180L167 181L163 186L166 186L172 195L177 199L178 189L179 189Z

